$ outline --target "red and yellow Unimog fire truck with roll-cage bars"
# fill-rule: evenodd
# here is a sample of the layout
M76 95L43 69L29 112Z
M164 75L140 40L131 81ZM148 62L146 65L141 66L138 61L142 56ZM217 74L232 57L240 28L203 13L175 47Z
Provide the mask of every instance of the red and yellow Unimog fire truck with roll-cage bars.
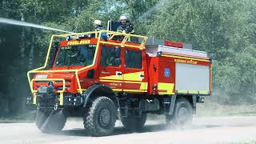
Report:
M102 34L108 39L102 39ZM27 74L42 132L81 116L92 136L109 135L116 119L140 130L147 114L189 124L196 102L211 94L211 60L181 42L102 30L53 35L44 66Z

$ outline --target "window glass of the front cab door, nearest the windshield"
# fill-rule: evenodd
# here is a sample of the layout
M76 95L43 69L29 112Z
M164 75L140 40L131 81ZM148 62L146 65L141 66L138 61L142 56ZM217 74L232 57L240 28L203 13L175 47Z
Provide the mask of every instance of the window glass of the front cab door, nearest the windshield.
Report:
M102 47L101 65L102 66L120 66L120 47L109 48Z

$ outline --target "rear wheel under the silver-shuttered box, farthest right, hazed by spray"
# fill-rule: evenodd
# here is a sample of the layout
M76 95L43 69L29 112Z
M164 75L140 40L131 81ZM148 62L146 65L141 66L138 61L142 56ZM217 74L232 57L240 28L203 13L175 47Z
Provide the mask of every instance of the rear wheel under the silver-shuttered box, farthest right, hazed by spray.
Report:
M186 128L191 126L193 108L186 98L178 98L174 106L173 122L175 126Z

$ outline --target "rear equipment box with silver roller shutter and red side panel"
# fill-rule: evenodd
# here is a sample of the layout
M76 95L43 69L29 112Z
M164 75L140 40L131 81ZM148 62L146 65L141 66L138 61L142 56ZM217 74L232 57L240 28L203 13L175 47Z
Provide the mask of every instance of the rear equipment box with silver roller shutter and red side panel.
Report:
M157 94L210 94L211 63L205 52L162 45L146 46L146 51L154 75L149 87L158 88Z

